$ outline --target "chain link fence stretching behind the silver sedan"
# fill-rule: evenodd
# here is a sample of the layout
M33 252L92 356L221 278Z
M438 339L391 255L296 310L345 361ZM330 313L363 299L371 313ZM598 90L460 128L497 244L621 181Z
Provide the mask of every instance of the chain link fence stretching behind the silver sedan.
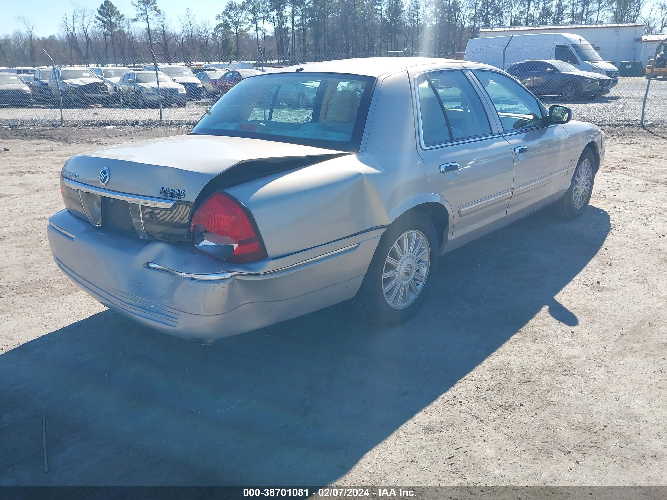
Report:
M482 39L484 40L484 39ZM618 49L618 47L614 47ZM607 51L609 53L609 51ZM652 61L603 61L597 53L573 47L480 45L465 53L394 52L394 57L445 57L487 63L521 81L549 107L564 104L575 119L598 125L667 125L667 69ZM0 126L145 127L149 135L186 133L233 85L244 77L311 61L374 57L375 54L319 54L299 57L248 55L236 61L154 60L44 61L25 64L17 73L0 73ZM667 66L667 64L665 64ZM7 70L3 70L7 71ZM652 72L651 72L652 71ZM648 76L652 76L647 93ZM312 89L295 92L280 107L298 109ZM644 100L646 101L644 102Z

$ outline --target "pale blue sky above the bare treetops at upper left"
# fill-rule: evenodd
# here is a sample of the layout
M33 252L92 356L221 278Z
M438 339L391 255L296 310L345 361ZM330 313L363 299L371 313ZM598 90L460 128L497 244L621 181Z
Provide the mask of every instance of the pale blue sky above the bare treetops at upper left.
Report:
M16 17L22 15L27 17L35 25L35 34L39 37L48 37L60 31L63 13L69 16L72 11L72 3L67 1L51 0L1 0L3 3L0 15L0 34L12 33L23 26L16 21ZM135 10L130 0L112 0L114 5L125 14L125 17L133 17ZM79 0L75 5L87 9L97 9L103 0ZM163 10L174 27L178 24L178 16L185 13L185 7L190 7L197 19L208 18L215 25L215 15L219 14L227 3L227 0L211 1L198 0L196 2L183 2L181 0L157 0L157 6Z

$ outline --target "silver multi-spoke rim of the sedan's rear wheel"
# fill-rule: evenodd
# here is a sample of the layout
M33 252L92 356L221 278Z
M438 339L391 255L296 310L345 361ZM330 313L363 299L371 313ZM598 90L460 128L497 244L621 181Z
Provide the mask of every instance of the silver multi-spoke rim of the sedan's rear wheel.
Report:
M412 304L424 288L430 263L428 240L420 231L406 231L394 242L382 271L384 299L394 309Z

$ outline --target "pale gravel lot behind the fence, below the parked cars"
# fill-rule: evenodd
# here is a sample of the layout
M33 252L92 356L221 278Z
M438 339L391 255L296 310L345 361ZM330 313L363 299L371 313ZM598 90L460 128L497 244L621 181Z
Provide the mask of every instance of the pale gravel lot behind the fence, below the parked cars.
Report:
M577 119L610 125L637 124L642 115L642 101L646 91L643 77L621 77L618 85L609 95L595 102L566 103L574 110ZM558 99L543 99L546 105L557 103ZM194 125L211 107L213 99L189 101L187 107L168 107L163 110L163 123L170 125ZM135 107L109 108L87 107L63 110L66 125L137 125L158 123L159 109L137 109ZM0 125L34 124L50 126L59 123L60 110L38 106L33 108L10 108L0 106ZM667 125L667 81L658 79L651 83L646 106L646 121ZM103 135L103 134L100 134Z

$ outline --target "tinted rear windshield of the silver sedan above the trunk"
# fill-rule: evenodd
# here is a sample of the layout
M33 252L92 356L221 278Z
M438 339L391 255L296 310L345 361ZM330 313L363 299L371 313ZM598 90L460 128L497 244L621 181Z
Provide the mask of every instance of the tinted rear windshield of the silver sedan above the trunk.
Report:
M358 151L374 82L336 73L246 78L213 105L192 133Z

